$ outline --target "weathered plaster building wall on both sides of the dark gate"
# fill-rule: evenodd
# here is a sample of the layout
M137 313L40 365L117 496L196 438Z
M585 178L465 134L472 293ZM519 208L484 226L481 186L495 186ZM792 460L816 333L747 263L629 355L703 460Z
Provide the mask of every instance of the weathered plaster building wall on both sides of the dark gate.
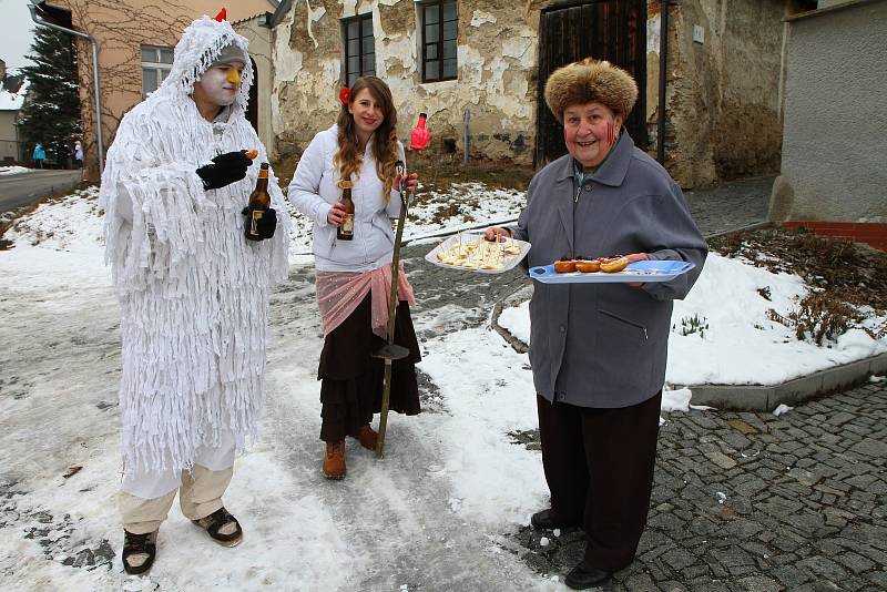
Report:
M310 3L310 12L308 4ZM415 0L294 2L275 29L272 105L275 149L298 155L335 121L341 68L340 19L371 12L376 72L391 86L398 133L428 113L434 150L533 164L540 12L561 0L460 0L458 80L421 83ZM684 187L774 174L782 124L781 0L686 0L670 8L666 166ZM646 115L655 153L660 2L648 2ZM703 43L692 39L693 25Z

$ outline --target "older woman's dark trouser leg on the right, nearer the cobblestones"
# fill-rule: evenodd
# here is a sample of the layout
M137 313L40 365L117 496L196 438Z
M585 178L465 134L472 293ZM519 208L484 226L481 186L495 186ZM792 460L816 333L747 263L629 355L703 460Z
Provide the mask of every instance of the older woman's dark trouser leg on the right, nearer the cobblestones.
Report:
M632 407L583 414L585 567L615 571L634 559L653 491L661 402L662 391Z

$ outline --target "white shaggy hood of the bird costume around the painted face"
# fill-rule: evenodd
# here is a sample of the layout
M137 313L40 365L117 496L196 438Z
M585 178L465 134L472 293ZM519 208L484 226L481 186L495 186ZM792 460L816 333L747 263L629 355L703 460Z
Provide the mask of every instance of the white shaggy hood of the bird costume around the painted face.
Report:
M227 45L234 45L243 52L244 69L236 103L241 110L246 111L249 88L253 85L253 64L246 50L248 42L234 31L228 21L216 21L210 17L201 17L182 33L182 39L175 45L175 57L169 75L147 100L169 96L184 99L193 93L194 83L216 63Z

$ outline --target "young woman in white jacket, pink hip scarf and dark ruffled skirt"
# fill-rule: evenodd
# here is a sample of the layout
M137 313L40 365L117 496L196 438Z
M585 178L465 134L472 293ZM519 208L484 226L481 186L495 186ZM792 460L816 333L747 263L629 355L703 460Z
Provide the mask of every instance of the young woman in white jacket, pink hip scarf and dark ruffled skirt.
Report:
M381 405L384 363L373 351L387 335L394 255L389 218L400 213L395 187L401 180L395 163L405 160L397 140L397 111L385 82L359 78L339 98L336 124L312 140L289 184L289 200L314 221L317 303L325 337L317 374L327 479L345 477L346 436L357 438L364 448L376 447L377 433L369 422ZM418 175L404 181L411 192ZM343 182L350 182L354 202L349 241L337 238L348 214L339 203ZM399 278L395 343L410 355L394 361L390 409L416 415L415 364L420 356L409 316L415 298L402 269Z

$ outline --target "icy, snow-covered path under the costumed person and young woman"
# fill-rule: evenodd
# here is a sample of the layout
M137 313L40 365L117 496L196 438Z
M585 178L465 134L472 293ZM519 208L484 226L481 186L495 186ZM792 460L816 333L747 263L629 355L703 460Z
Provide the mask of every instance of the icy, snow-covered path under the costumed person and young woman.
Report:
M457 331L450 336L462 335L462 343L441 335L425 344L430 351L420 368L443 384L442 402L416 418L392 414L383 461L349 440L348 477L323 479L319 320L309 275L297 268L272 304L262 440L237 461L225 497L244 524L244 543L212 544L173 507L150 576L126 578L114 506L121 469L118 308L98 262L59 256L69 257L67 269L53 266L58 273L39 280L26 249L4 254L0 265L3 590L560 588L532 573L503 537L526 520L541 486L536 453L509 445L496 425L502 415L497 406L508 400L496 397L507 397L513 385L502 381L489 392L493 419L468 417L479 397L467 368L478 364L471 350L489 331ZM458 306L447 306L446 323L458 325ZM429 310L417 327L428 335L440 323ZM501 344L489 344L490 359L514 357L497 364L521 364L510 349L492 350ZM503 415L504 423L520 423ZM72 466L82 469L64 478ZM526 482L533 487L516 490Z

